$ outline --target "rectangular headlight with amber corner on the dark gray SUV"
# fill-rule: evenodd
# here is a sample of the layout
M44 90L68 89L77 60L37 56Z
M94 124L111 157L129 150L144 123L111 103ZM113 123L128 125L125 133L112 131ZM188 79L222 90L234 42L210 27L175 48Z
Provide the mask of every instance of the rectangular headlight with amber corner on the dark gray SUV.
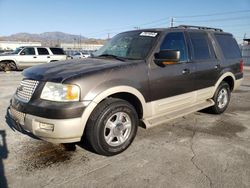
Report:
M80 88L76 85L47 82L41 99L60 102L79 101Z

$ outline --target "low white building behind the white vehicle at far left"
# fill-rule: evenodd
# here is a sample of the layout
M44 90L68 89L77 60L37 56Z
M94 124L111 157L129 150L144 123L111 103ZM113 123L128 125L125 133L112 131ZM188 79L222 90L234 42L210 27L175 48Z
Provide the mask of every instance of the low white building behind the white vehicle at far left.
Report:
M41 42L0 41L0 50L15 50L20 46L42 46Z

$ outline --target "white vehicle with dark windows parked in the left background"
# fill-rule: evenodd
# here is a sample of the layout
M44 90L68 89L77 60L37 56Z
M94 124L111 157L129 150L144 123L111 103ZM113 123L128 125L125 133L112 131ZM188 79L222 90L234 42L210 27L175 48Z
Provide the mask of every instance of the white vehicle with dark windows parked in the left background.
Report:
M66 58L61 48L20 47L11 54L0 55L0 70L21 70L43 63L66 60Z

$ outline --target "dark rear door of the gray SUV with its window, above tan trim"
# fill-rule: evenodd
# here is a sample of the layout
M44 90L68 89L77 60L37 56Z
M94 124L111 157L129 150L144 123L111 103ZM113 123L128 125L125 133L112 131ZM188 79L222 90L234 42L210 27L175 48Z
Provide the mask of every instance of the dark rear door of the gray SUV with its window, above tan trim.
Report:
M204 31L188 32L191 49L191 61L196 67L195 90L213 86L221 69L216 58L211 37Z

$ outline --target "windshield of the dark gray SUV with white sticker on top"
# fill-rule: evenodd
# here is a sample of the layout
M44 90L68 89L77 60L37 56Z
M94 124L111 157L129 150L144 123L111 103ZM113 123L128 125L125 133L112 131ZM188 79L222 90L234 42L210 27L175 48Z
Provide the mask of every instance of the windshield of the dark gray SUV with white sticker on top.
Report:
M110 55L124 59L145 59L157 37L157 32L131 31L121 33L93 53L93 56Z

